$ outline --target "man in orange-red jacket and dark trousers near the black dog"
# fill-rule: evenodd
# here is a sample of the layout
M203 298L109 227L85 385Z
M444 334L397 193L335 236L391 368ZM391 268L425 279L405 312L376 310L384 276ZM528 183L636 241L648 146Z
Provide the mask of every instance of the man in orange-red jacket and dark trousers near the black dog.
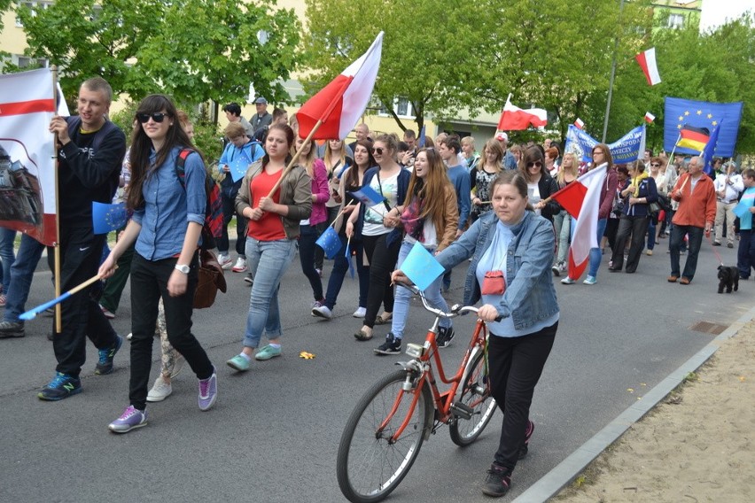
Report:
M681 274L681 284L689 284L697 270L697 253L703 243L703 232L710 236L716 218L716 190L710 177L703 173L704 160L693 157L689 161L689 172L677 180L671 192L679 208L673 215L673 228L669 244L671 254L671 275L669 282L679 279L679 248L684 236L688 236L689 253Z

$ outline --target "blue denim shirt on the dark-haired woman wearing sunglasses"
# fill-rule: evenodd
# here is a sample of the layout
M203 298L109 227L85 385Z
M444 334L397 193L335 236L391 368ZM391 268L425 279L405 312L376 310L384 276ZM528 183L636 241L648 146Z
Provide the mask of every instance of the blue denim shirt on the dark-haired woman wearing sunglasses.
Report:
M175 173L180 151L175 147L165 163L152 168L142 187L144 208L134 212L134 221L142 226L136 238L136 252L147 260L167 259L180 253L189 222L205 223L205 164L198 154L189 154L184 165L184 190ZM155 157L152 151L151 163Z

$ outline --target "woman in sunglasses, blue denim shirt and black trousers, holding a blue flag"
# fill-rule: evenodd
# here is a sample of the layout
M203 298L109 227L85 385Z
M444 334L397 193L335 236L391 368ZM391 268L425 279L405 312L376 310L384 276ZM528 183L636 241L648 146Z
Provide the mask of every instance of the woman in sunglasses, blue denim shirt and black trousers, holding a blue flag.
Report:
M147 385L160 298L165 306L167 338L199 379L199 409L209 409L217 399L215 368L191 334L197 249L205 221L205 163L193 149L168 97L145 97L136 109L136 119L140 127L132 135L127 196L134 216L99 268L103 277L113 275L121 253L136 242L131 261L131 291L135 295L131 296L130 405L110 423L116 433L147 423ZM185 158L182 177L176 162L184 149L191 153Z

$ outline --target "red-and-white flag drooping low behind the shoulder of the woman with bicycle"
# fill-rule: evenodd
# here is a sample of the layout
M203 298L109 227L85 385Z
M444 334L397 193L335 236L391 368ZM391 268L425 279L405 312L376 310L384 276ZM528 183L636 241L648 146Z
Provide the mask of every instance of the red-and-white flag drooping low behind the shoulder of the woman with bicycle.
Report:
M580 278L588 267L590 248L597 248L597 220L600 193L607 164L602 164L551 196L577 221L569 247L569 277Z

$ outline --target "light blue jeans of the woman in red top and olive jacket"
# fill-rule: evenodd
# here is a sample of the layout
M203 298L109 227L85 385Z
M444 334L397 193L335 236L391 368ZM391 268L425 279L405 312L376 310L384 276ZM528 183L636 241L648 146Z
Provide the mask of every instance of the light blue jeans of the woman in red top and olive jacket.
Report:
M259 346L263 333L268 339L281 337L278 289L295 253L295 239L258 241L253 237L246 238L246 266L254 283L246 316L245 347Z

